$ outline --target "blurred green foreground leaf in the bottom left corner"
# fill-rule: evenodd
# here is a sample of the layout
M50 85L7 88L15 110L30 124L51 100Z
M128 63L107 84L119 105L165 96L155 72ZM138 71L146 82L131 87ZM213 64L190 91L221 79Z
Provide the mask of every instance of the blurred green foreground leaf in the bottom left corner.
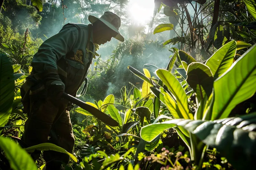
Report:
M0 148L4 150L4 155L13 170L37 170L30 155L11 139L0 137Z

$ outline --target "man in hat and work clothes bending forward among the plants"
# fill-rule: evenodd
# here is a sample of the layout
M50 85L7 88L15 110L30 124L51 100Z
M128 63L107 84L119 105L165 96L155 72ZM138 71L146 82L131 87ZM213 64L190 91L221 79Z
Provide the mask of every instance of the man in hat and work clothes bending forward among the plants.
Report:
M33 70L22 85L24 111L28 114L22 140L28 145L54 143L72 153L75 144L69 112L71 103L61 98L63 92L76 96L92 63L94 44L104 44L112 37L124 42L119 33L121 19L112 12L100 18L89 16L92 23L66 24L40 46L32 59ZM31 156L34 160L39 151ZM58 170L69 156L44 151L46 169Z

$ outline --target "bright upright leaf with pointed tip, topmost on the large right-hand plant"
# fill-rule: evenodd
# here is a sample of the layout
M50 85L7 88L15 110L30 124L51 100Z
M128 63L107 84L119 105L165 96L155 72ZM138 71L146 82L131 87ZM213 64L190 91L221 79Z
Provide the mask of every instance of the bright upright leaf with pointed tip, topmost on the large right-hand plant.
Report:
M232 65L236 55L236 41L231 41L218 49L207 61L214 79L220 77Z

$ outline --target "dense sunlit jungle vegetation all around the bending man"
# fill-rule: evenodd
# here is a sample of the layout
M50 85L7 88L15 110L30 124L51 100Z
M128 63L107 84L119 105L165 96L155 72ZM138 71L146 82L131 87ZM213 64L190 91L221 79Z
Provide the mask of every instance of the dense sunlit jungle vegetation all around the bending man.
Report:
M255 1L154 2L142 25L130 17L128 0L1 1L0 169L44 169L44 159L29 155L35 149L70 155L63 169L254 168ZM77 98L118 126L75 106L73 153L50 143L24 148L20 86L37 48L65 23L88 24L88 15L104 11L122 18L126 41L100 47L87 92Z

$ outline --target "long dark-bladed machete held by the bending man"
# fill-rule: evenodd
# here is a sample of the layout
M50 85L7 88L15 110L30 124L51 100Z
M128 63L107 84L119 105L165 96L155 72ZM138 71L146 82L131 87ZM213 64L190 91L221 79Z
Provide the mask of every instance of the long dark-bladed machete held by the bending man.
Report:
M92 114L93 116L95 116L96 118L98 118L99 120L101 120L102 122L106 123L109 126L118 126L118 122L116 122L114 119L112 119L112 117L106 115L105 113L101 112L100 110L98 110L97 108L88 105L86 103L84 103L83 101L76 99L75 97L63 92L62 97L64 99L67 99L68 101L76 104L77 106L81 107L82 109L90 112L90 114Z

